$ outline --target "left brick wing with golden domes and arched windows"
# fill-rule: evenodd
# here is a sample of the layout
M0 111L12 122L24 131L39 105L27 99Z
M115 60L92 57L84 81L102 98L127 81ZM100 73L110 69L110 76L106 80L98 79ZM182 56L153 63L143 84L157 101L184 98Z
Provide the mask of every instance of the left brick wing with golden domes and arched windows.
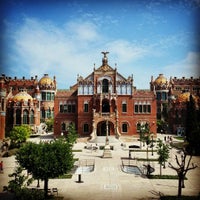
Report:
M40 80L0 77L0 139L13 126L29 124L33 130L40 122L54 117L56 80L45 74Z

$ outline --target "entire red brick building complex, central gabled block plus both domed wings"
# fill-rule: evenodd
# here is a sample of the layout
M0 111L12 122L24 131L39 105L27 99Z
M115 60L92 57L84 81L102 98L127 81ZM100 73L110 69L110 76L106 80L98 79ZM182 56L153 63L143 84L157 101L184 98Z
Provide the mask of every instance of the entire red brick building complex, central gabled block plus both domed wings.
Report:
M137 90L133 77L123 77L108 64L102 52L102 64L86 78L77 77L68 90L57 90L55 77L48 74L26 79L0 76L0 139L15 125L29 124L33 129L48 118L54 118L54 133L67 133L75 123L80 136L136 135L140 126L156 133L158 120L171 133L184 132L186 102L193 95L200 107L200 78L169 80L163 75L151 77L150 90Z

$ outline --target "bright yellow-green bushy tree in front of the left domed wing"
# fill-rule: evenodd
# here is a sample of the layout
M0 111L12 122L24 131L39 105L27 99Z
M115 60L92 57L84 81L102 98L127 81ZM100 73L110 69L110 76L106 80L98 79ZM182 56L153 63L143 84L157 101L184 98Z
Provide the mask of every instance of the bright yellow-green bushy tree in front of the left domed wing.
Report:
M10 139L13 146L20 147L20 145L30 137L31 128L28 125L14 126L10 131Z

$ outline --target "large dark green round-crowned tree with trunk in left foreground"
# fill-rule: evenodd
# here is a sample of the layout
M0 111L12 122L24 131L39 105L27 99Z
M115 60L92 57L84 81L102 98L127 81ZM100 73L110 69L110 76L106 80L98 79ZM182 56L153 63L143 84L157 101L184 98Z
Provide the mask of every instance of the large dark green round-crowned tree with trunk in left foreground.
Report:
M16 154L16 160L33 178L44 181L45 197L49 178L69 172L74 164L72 145L65 140L53 143L26 143Z

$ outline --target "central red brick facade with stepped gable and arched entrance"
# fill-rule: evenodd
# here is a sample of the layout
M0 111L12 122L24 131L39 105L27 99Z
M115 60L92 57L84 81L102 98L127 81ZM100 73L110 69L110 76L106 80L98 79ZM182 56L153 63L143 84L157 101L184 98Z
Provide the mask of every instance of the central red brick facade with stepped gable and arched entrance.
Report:
M75 123L80 136L137 135L142 124L156 134L156 96L150 90L133 87L133 77L124 78L108 65L108 52L102 65L86 78L77 77L69 90L55 96L54 134L67 133Z

